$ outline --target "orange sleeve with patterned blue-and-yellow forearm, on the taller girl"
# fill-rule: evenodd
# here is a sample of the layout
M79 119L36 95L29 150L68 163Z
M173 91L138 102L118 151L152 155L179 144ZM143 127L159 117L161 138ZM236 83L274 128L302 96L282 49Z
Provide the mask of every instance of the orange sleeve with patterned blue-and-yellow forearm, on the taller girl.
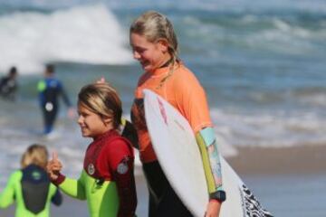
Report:
M178 81L176 82L177 109L187 118L196 135L206 174L208 193L215 193L222 190L222 174L206 93L195 76L190 75L187 78L188 82Z

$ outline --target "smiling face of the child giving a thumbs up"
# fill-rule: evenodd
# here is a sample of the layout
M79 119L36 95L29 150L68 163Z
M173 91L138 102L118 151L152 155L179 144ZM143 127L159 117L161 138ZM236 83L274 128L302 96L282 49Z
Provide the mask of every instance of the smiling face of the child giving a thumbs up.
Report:
M96 138L113 128L111 118L101 117L81 103L78 103L78 124L82 137Z

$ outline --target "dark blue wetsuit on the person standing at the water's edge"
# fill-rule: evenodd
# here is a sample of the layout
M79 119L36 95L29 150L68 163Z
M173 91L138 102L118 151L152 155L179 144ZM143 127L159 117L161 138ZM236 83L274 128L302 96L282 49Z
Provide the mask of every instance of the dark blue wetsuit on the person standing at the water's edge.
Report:
M62 96L65 104L70 107L71 103L63 90L62 82L55 78L40 80L37 85L39 91L40 106L43 111L44 134L51 133L53 124L59 110L59 96Z

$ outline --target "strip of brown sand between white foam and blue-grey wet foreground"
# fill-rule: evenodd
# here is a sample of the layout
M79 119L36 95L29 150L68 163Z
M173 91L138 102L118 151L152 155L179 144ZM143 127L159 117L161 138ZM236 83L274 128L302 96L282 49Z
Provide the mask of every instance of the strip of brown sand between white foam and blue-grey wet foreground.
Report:
M227 161L240 175L298 175L326 173L326 145L283 148L238 148Z

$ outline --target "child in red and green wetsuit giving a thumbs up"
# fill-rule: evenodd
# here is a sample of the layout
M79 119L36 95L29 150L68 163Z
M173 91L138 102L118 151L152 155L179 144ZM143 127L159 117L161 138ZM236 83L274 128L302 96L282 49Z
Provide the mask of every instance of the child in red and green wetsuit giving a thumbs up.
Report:
M107 83L86 85L78 95L78 124L87 147L78 180L60 173L57 155L47 166L53 184L73 198L87 200L91 217L133 217L137 206L134 154L124 137L121 101ZM122 135L122 136L120 136Z

